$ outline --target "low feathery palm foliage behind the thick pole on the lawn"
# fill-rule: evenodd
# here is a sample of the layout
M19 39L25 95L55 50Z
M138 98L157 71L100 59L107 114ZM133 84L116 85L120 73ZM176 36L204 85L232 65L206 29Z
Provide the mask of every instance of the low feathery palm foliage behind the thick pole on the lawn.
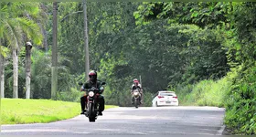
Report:
M35 76L31 79L31 97L36 99L52 99L51 96L51 51L47 54L40 50L32 51L31 75ZM70 75L69 68L65 66L67 62L71 62L66 57L58 56L58 83L59 91L69 91L75 84L73 75ZM59 93L57 92L57 95Z

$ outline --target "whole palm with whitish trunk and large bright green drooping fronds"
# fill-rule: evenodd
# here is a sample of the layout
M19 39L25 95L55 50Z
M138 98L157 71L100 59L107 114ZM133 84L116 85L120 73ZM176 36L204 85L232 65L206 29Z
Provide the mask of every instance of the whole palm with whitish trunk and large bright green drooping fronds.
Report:
M3 2L2 16L0 19L1 36L4 37L6 43L12 50L13 58L13 98L18 98L18 52L27 39L31 39L35 44L41 44L42 36L40 29L34 20L29 16L37 16L39 3L25 2ZM26 39L27 38L27 39Z

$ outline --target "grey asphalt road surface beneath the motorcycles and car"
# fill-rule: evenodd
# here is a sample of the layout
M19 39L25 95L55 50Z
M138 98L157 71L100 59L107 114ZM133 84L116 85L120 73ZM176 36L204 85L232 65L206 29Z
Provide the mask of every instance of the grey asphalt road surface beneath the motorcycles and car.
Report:
M216 135L223 129L224 112L215 107L114 108L103 111L96 122L79 115L51 123L2 125L1 135Z

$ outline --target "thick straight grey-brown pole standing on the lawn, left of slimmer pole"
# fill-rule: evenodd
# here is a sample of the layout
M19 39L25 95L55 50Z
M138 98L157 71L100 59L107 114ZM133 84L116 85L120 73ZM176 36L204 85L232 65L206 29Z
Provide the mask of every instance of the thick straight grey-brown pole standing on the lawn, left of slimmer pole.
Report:
M56 99L56 94L58 90L58 58L57 58L57 45L58 45L58 39L57 39L57 14L58 14L58 2L53 3L53 30L52 30L52 68L51 68L51 99Z

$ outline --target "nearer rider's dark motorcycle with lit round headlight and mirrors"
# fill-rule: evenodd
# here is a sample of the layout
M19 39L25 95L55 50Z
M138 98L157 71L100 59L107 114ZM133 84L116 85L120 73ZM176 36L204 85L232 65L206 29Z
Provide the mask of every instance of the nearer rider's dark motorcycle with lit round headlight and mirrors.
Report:
M79 83L80 85L82 85L82 83ZM101 89L103 90L103 85L105 85L105 82L101 82ZM98 115L99 115L99 101L97 99L99 99L99 95L100 92L99 90L96 90L95 87L92 87L90 90L88 90L88 96L87 96L87 111L85 113L85 116L89 118L90 122L94 122Z

